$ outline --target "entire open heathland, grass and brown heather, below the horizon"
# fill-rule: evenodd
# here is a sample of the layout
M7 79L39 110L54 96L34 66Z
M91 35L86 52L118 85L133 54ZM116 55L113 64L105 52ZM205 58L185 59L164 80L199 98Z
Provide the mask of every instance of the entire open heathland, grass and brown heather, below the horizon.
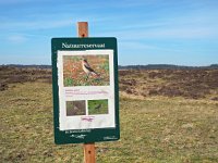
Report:
M217 163L218 70L119 71L121 139L99 163ZM83 162L53 142L51 70L0 66L0 162Z

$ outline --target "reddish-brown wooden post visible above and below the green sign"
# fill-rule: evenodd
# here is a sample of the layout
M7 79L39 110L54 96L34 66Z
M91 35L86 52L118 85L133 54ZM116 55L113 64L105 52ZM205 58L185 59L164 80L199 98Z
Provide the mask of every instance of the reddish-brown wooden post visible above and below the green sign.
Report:
M77 35L78 37L88 37L88 23L77 23ZM95 143L84 143L84 162L96 163Z

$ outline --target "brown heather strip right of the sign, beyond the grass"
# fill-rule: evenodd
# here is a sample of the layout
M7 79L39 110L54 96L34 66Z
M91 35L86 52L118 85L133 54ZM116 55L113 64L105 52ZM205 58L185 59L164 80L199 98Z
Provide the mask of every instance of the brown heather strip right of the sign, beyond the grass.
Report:
M218 100L218 70L120 71L120 90L136 97Z

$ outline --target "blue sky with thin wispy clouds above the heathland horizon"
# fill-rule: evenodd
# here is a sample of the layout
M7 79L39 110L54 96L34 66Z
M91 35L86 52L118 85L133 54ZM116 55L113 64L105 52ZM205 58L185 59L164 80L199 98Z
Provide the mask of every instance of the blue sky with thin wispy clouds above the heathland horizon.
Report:
M119 64L218 63L217 0L0 0L0 64L51 64L52 37L117 37Z

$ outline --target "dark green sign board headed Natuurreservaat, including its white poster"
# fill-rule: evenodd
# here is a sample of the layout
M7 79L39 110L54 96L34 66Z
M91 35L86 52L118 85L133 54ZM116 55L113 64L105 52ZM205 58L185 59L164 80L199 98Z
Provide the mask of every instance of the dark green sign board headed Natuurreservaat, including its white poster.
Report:
M116 38L52 38L55 141L120 138Z

